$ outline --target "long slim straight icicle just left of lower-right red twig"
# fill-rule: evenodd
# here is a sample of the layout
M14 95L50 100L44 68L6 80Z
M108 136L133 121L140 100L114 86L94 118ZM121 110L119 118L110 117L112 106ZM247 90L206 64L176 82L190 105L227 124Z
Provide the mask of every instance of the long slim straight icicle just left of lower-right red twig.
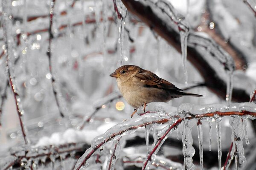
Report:
M217 143L218 143L218 169L221 170L221 118L215 119L216 132L217 132Z

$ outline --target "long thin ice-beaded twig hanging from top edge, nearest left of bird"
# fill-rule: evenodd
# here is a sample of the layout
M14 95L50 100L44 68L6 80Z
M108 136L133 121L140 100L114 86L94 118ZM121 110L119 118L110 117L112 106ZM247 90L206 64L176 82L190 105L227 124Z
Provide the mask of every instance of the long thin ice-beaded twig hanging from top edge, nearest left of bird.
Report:
M49 28L48 28L48 32L49 32L49 40L48 40L49 46L48 46L48 49L47 49L47 56L49 58L49 72L52 75L51 80L52 80L53 95L55 97L55 101L56 101L58 110L60 112L60 115L61 115L61 117L64 117L64 114L62 113L61 108L60 108L60 103L59 103L58 96L57 96L57 89L55 88L55 86L56 86L55 78L53 77L53 74L52 74L52 49L51 48L52 48L52 39L53 39L52 19L53 19L53 16L54 16L54 5L55 5L55 0L51 0L51 3L50 3L50 17L49 17Z

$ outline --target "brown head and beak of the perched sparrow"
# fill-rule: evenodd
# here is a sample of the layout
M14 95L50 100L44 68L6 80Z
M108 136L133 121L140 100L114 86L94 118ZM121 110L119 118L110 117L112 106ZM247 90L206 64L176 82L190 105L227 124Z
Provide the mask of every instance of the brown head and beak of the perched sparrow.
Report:
M140 68L136 65L123 65L117 68L109 76L115 77L116 79L120 79L122 81L127 81L128 79L133 77L135 74L137 74L139 70Z

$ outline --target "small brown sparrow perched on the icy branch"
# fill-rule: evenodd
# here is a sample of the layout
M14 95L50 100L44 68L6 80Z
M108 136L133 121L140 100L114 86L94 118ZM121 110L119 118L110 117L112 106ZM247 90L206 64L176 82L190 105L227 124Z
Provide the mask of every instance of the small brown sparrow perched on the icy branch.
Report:
M137 65L122 65L117 68L110 77L116 78L117 87L129 105L137 109L151 102L168 102L182 96L201 97L200 94L183 92L171 82L158 77L151 71L140 68Z

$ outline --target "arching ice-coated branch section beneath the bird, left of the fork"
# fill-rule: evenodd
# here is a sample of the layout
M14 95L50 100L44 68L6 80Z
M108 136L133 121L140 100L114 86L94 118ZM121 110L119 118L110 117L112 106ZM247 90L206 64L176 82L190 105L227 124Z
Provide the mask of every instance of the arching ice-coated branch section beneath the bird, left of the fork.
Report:
M76 163L76 170L79 170L84 164L86 164L86 161L100 148L102 145L104 145L107 142L110 142L114 140L116 137L119 137L123 135L124 133L131 133L132 130L137 130L139 127L145 127L147 125L154 125L154 124L162 124L169 122L170 119L168 118L160 118L158 117L157 113L153 113L154 115L154 121L152 119L148 119L150 116L152 116L151 113L145 114L143 116L140 116L137 118L137 120L129 120L122 122L111 129L107 130L105 134L98 136L95 140L98 139L98 141L93 140L92 145L87 151L84 153L84 155L79 159L79 161ZM144 119L143 119L144 118Z

